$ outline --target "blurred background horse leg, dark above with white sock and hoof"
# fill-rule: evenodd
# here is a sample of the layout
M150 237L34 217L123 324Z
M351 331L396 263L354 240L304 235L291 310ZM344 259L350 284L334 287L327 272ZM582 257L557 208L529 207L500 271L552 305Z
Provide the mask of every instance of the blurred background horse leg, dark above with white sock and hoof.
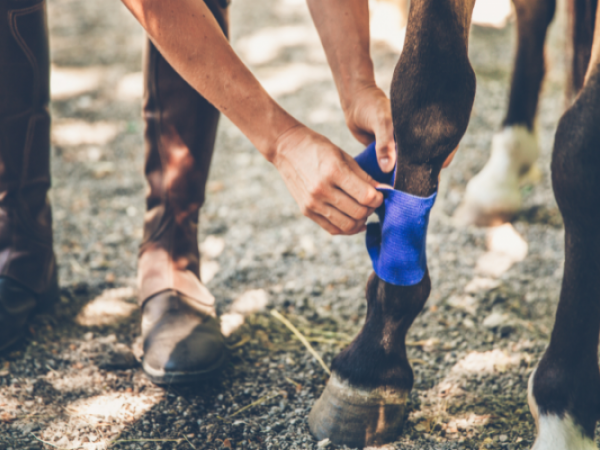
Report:
M544 41L556 0L513 0L518 45L510 98L502 129L492 140L490 159L467 185L456 212L461 223L480 226L509 221L521 208L520 185L539 178L535 112L544 78ZM537 174L537 176L536 176Z

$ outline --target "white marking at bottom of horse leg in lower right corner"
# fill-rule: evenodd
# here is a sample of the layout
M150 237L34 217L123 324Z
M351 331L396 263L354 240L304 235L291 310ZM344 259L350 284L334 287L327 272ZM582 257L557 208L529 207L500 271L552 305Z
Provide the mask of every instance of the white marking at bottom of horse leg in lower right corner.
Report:
M565 412L562 417L557 414L540 414L533 396L533 377L529 377L527 400L529 409L535 419L537 438L531 450L598 450L596 444L577 424L573 417Z

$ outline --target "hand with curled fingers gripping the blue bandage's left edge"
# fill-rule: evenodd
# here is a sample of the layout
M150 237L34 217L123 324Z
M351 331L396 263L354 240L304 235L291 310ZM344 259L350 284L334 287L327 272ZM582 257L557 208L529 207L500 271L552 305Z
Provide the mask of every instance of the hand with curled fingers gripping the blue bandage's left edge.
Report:
M303 125L279 137L272 162L302 213L332 235L363 231L383 202L351 156Z

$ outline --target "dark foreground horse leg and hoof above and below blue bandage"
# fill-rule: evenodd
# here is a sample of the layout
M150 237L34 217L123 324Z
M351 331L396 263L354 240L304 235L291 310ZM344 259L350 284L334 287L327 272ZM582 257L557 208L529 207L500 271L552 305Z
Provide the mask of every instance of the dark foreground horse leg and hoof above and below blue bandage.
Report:
M398 145L394 188L427 197L442 164L465 133L475 96L467 56L474 0L413 0L391 99ZM396 286L376 274L366 289L363 329L333 361L332 377L309 425L319 438L350 447L395 440L401 433L413 372L405 336L430 292L430 279Z

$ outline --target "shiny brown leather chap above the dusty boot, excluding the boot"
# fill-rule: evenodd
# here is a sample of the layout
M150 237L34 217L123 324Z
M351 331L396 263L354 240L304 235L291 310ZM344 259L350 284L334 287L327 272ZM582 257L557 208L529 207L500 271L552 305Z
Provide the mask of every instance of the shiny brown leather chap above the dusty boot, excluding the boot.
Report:
M227 33L226 10L217 0L206 3ZM212 314L214 299L199 278L197 228L219 112L175 72L150 41L144 60L149 190L138 269L140 301L174 289Z

